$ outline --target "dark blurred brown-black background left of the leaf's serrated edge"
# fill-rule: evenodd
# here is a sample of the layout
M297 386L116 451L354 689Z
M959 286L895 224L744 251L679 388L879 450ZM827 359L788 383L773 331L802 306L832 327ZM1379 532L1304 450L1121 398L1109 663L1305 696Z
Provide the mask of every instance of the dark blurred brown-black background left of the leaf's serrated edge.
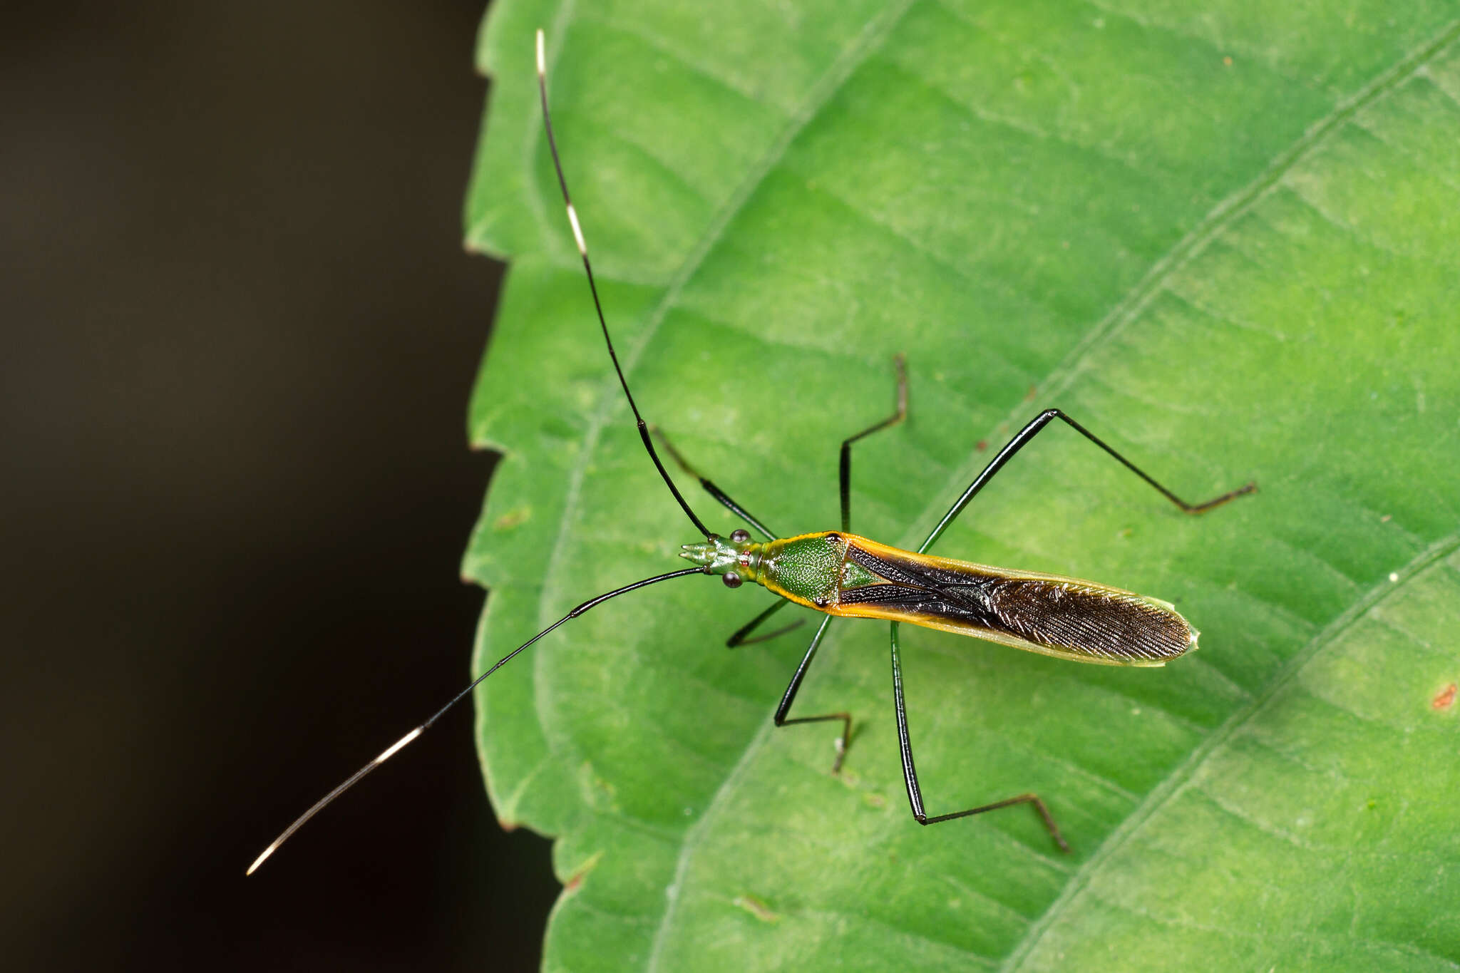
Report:
M480 0L7 9L4 966L534 966L466 709L244 880L467 678Z

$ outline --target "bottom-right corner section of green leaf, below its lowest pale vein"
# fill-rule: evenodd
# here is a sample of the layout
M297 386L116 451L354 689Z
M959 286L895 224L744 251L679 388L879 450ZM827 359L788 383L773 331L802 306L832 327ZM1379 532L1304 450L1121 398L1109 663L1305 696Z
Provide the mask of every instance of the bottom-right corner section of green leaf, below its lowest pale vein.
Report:
M1016 969L1454 967L1460 537L1333 626L1174 775L1044 919ZM1406 572L1409 573L1409 572ZM1372 674L1380 678L1372 678ZM1422 775L1416 770L1424 767ZM1221 842L1213 842L1221 836ZM1260 864L1260 869L1254 869ZM1410 907L1396 909L1407 902ZM1204 953L1203 953L1204 951ZM1104 961L1102 961L1104 960Z

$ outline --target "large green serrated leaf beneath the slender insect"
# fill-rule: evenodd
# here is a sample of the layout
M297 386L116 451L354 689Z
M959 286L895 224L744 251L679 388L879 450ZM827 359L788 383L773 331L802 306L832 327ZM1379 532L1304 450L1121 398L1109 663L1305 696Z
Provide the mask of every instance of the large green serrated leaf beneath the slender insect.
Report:
M467 204L511 261L470 436L476 667L698 540L603 353L542 134L533 29L650 422L784 534L915 547L1058 406L939 553L1165 598L1200 652L1083 667L803 627L689 578L596 608L477 697L504 823L556 837L553 970L1453 970L1460 964L1460 4L504 0ZM736 522L686 477L717 531ZM799 610L797 610L799 611ZM1453 690L1450 690L1453 691Z

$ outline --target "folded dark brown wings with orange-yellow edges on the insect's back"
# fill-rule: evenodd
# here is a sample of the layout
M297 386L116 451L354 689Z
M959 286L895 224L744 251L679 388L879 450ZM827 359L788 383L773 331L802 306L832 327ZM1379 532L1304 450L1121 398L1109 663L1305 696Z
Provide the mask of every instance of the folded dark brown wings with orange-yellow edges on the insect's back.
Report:
M844 573L867 584L842 588L832 614L1104 665L1165 665L1196 648L1196 629L1168 602L1091 581L914 554L860 537L847 562L866 573Z

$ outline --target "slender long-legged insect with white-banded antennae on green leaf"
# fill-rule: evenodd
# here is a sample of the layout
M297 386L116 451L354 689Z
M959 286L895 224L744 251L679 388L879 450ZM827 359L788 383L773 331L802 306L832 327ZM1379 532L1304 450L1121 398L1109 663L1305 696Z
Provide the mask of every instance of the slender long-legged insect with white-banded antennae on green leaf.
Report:
M517 655L534 645L539 639L553 632L571 619L577 619L585 611L618 598L619 595L650 585L657 585L675 578L691 575L715 575L727 588L740 588L745 582L756 582L780 600L765 611L759 613L748 624L730 636L727 645L748 645L764 639L775 637L790 630L781 629L769 635L752 637L753 633L777 611L787 604L799 604L822 613L825 617L816 633L812 636L806 654L802 656L790 684L775 708L774 721L777 726L794 724L840 724L841 732L837 737L837 757L832 772L841 769L851 734L851 713L835 712L815 716L790 716L796 694L800 690L816 649L826 635L832 619L883 619L891 621L891 651L892 651L892 697L896 712L898 740L902 760L902 776L907 786L908 804L912 817L918 824L937 824L955 818L983 814L999 808L1029 804L1040 814L1045 829L1054 842L1064 850L1069 845L1060 834L1053 815L1044 801L1035 794L1021 794L1016 796L971 807L948 814L927 814L923 804L923 792L918 785L917 769L912 760L912 744L908 735L907 709L902 693L902 668L899 659L898 630L901 623L942 629L959 635L968 635L990 642L1040 652L1077 662L1094 662L1101 665L1164 665L1184 652L1196 648L1197 632L1177 610L1158 598L1137 595L1134 592L1111 588L1091 581L1063 578L1037 572L1007 570L990 567L969 562L952 560L929 554L929 548L937 543L939 537L962 513L964 508L978 495L984 486L997 474L1009 460L1028 445L1042 429L1054 420L1070 426L1085 439L1104 449L1110 457L1123 464L1133 474L1145 480L1171 503L1187 513L1204 513L1234 497L1254 492L1254 483L1223 493L1204 503L1187 503L1175 493L1136 467L1108 443L1091 433L1082 425L1057 408L1047 408L1035 416L1021 429L974 477L972 483L948 509L948 513L929 532L927 540L915 551L899 550L866 537L851 532L851 446L866 436L889 429L907 417L907 375L902 356L895 359L896 368L896 408L895 411L861 432L848 436L841 443L838 470L841 490L841 528L835 531L819 531L780 538L753 516L743 505L730 497L712 480L701 476L686 460L670 445L669 439L651 427L639 413L629 389L628 379L619 365L613 338L609 334L607 319L599 299L597 282L593 276L593 265L588 260L588 247L584 241L578 213L572 206L568 193L568 181L558 156L558 143L552 128L552 117L548 108L548 79L543 57L543 32L537 31L537 85L542 98L543 127L548 134L548 146L552 155L553 168L558 175L558 185L562 190L564 207L572 236L583 258L583 268L588 280L588 290L593 296L593 306L603 333L603 341L609 352L609 360L618 375L623 397L634 413L644 449L648 452L654 468L663 478L675 502L694 524L704 540L685 544L680 556L694 566L672 570L653 578L645 578L634 584L604 592L577 605L550 626L527 639L524 643L504 655L491 668L482 672L470 686L457 693L445 706L435 712L423 724L402 737L384 753L355 772L349 779L324 795L318 802L295 820L285 831L274 839L269 848L250 865L248 872L257 869L279 846L288 840L301 826L318 814L326 805L340 796L345 791L358 783L368 773L381 766L385 760L413 743L420 734L431 728L447 710L461 702L492 672L512 661ZM699 481L704 490L715 502L724 505L736 516L743 519L750 528L758 531L764 541L752 540L746 530L736 530L729 537L720 537L710 531L691 505L685 500L675 484L669 470L654 448L656 438L664 446L664 452L679 465L685 474ZM790 626L794 627L794 626Z

